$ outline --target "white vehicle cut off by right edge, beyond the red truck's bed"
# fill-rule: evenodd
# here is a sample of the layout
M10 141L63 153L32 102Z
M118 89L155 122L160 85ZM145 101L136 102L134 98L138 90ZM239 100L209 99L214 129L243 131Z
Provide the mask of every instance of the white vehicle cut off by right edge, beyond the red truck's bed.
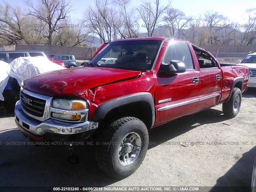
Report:
M256 88L256 52L248 54L241 64L249 68L248 87Z

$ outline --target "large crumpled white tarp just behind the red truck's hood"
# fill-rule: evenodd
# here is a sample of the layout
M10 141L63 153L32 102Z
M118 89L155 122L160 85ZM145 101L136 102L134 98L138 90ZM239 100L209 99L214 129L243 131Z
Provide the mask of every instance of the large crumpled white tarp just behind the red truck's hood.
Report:
M51 62L43 56L19 57L10 63L10 70L7 73L10 77L16 78L21 85L21 82L27 78L60 69L66 68Z

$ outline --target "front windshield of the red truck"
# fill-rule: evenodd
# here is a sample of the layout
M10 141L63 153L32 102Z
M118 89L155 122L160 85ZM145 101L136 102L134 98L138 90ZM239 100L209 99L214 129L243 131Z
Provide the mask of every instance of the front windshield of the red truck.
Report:
M161 43L158 40L110 42L86 66L151 70Z

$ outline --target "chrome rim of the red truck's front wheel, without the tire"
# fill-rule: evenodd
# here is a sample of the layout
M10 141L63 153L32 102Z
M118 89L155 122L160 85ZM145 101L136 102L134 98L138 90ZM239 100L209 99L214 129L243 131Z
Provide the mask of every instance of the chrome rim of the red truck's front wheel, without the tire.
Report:
M140 135L135 132L127 134L118 149L118 161L122 166L127 166L136 161L141 150Z

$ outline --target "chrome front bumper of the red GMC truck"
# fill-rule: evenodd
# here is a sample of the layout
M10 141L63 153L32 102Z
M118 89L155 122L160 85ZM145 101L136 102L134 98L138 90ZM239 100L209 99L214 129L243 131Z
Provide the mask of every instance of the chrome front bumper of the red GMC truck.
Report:
M70 135L98 128L98 122L91 121L71 123L53 119L48 119L44 122L34 120L22 111L20 101L16 103L14 112L18 128L36 136L43 136L46 133Z

